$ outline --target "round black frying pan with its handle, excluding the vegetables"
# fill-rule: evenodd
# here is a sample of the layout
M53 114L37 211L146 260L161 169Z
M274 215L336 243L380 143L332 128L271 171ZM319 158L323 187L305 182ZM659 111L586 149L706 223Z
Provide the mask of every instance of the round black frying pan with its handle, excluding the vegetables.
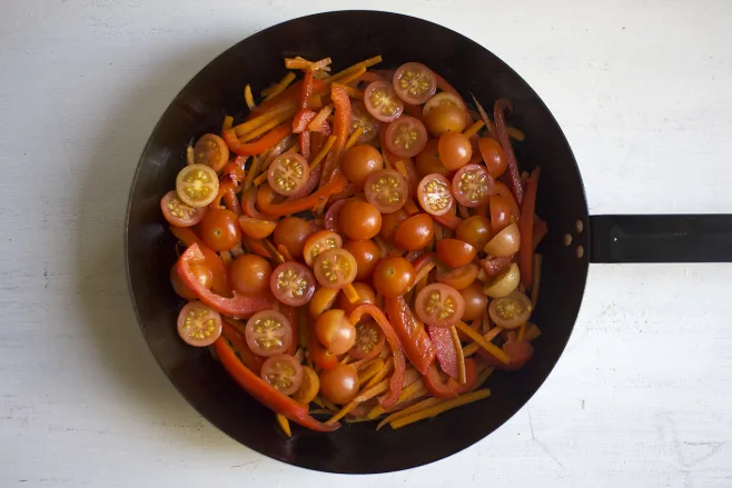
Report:
M419 61L469 100L485 107L506 97L511 123L526 133L516 145L522 169L542 167L537 213L548 222L542 243L542 293L534 313L543 336L530 365L496 374L493 396L407 428L376 432L369 424L335 434L294 426L284 437L271 411L241 391L206 349L176 332L181 300L168 281L175 240L160 213L192 138L216 132L225 113L245 113L243 87L255 92L284 74L283 58L329 56L340 69L380 53L386 67ZM127 225L130 289L152 353L178 390L207 419L241 444L273 458L334 472L384 472L451 456L477 442L517 412L546 379L574 326L590 262L732 260L730 216L587 215L580 170L562 129L542 100L508 66L469 39L434 23L383 12L322 13L280 23L239 42L204 68L176 97L145 148L132 186ZM572 236L566 246L566 235Z

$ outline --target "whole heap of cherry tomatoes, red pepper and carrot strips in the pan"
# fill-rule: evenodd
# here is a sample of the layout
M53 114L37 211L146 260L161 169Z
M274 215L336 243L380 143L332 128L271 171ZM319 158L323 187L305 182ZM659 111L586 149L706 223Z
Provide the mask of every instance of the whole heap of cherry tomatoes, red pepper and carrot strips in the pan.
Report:
M538 168L424 64L289 70L238 125L188 148L160 202L185 247L178 332L248 394L313 430L397 429L489 395L540 336ZM301 74L301 79L297 78Z

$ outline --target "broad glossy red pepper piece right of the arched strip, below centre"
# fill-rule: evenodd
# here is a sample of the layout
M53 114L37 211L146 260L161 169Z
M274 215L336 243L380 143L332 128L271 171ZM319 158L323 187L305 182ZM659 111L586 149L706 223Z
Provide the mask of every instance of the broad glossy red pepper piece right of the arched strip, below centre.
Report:
M409 305L403 297L386 298L384 309L409 362L425 375L429 363L435 359L435 347L425 331L424 323L412 313ZM449 330L447 335L449 336Z

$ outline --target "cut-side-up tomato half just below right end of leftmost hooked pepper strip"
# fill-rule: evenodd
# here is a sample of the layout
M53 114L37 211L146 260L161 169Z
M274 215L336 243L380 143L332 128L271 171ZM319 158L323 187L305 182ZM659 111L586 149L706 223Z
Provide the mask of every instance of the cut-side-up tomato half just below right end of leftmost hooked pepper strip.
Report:
M245 336L251 352L275 356L285 352L293 343L293 326L277 310L263 310L247 321Z

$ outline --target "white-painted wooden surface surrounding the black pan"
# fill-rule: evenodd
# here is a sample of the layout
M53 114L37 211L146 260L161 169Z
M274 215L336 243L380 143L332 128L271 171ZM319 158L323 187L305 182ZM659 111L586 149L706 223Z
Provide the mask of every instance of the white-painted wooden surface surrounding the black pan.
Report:
M239 39L363 4L1 2L0 486L732 486L729 265L593 266L541 391L488 439L422 469L291 468L219 432L169 385L122 260L154 123ZM732 211L729 1L372 6L463 32L522 73L564 128L593 212Z

